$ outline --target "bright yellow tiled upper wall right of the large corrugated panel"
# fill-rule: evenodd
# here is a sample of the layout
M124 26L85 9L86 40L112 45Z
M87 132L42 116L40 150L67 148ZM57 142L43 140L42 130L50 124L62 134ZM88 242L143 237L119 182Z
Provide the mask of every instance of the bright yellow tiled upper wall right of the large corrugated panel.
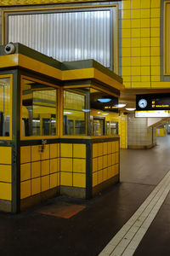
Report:
M166 87L165 82L160 83L160 6L161 0L122 1L122 78L126 88Z

